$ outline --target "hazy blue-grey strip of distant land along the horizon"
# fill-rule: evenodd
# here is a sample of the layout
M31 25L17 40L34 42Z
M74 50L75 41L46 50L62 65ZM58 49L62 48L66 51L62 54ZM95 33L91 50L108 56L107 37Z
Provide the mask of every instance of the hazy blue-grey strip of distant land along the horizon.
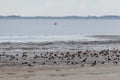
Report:
M8 15L8 16L0 16L0 19L120 19L120 16L117 15L105 15L105 16L61 16L61 17L53 17L53 16L31 16L31 17L23 17L17 15Z

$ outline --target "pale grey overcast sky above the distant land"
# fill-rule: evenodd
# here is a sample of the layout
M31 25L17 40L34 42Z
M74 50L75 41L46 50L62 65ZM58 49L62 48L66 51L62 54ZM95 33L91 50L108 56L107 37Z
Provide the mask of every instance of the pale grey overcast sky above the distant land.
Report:
M0 0L0 15L120 15L120 0Z

